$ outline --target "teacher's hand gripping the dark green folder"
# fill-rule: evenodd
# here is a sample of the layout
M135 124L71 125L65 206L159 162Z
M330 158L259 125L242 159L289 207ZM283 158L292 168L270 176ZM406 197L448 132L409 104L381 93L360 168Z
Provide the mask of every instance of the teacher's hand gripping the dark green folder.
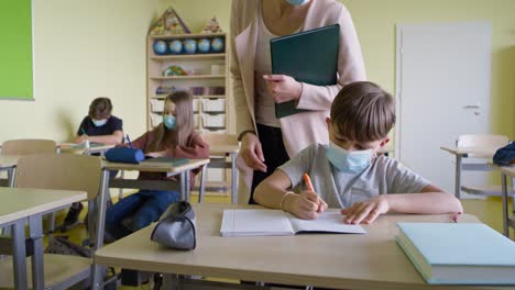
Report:
M264 75L269 93L276 103L298 100L303 92L303 83L286 75Z

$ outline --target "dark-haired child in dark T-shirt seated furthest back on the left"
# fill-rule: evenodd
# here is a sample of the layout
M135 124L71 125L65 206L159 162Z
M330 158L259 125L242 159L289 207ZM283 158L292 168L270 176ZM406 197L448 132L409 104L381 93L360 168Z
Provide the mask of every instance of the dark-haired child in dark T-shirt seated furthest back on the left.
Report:
M102 144L121 144L123 142L123 122L111 115L112 103L109 98L100 97L89 104L88 115L80 122L74 142L83 144L86 141ZM111 171L117 175L118 171ZM84 205L80 202L72 203L64 226L69 227L78 222Z

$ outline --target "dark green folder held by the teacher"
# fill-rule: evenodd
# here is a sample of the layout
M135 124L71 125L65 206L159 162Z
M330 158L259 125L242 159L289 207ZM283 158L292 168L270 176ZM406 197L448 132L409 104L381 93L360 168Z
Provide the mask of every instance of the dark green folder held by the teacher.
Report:
M336 85L339 44L338 24L272 38L272 74L287 75L297 81L315 86ZM275 103L275 116L283 118L307 111L296 107L296 101Z

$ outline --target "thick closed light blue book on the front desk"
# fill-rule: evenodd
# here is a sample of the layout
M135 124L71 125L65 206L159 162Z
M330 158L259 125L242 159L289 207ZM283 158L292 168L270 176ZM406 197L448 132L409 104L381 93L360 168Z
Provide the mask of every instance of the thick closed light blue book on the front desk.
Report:
M430 285L515 285L515 243L485 224L397 226L397 244Z

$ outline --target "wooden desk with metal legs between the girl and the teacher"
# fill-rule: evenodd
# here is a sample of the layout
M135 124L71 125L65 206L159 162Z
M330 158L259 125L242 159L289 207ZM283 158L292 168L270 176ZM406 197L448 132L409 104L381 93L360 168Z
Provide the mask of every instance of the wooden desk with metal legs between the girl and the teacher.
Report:
M239 145L228 145L228 144L212 144L209 145L209 155L210 156L229 156L231 163L228 165L226 160L220 160L220 158L213 157L209 163L210 168L231 168L231 202L233 204L238 203L238 169L237 169L237 158L240 150ZM204 176L205 171L202 171ZM200 186L200 190L204 190L204 186ZM204 192L199 193L204 196ZM201 202L201 200L199 200Z

